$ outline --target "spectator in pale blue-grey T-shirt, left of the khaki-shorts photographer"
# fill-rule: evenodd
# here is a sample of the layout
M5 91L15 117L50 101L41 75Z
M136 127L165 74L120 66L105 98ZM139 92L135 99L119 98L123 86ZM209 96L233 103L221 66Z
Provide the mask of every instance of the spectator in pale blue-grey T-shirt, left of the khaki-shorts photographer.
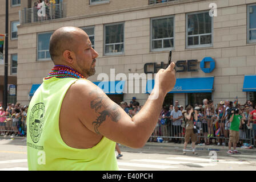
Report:
M171 111L171 120L173 124L174 137L182 137L181 118L183 118L182 111L178 106L174 106L174 110ZM174 138L175 143L181 143L181 138Z

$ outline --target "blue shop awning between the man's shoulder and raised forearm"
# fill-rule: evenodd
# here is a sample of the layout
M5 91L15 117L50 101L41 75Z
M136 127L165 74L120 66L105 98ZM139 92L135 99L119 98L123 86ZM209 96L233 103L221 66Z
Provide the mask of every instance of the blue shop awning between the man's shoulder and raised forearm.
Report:
M99 81L93 83L106 94L123 94L123 89L125 88L125 81Z

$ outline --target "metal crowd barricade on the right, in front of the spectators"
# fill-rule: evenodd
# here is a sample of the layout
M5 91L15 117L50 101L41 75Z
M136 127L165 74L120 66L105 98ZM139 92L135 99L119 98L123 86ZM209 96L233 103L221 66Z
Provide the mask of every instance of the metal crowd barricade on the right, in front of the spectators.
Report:
M224 121L225 122L225 121ZM229 142L229 133L227 133L226 137L224 133L221 133L222 135L216 136L215 132L217 129L213 130L213 136L209 135L209 130L211 130L211 127L208 125L210 123L207 123L207 121L198 121L197 122L197 129L198 129L198 142L201 140L205 140L206 142L213 142L222 144L223 142L226 144ZM219 126L221 126L221 122L219 121ZM168 119L167 122L161 123L161 118L159 118L157 126L155 126L155 130L153 134L151 135L149 141L150 142L157 142L157 138L162 138L163 142L174 142L176 140L181 140L181 142L184 142L185 139L185 122L182 119L181 125L174 126L173 121L171 119ZM212 126L214 128L214 125ZM225 127L224 127L225 130ZM248 129L246 124L242 126L242 129L239 131L239 140L243 143L249 143L250 145L256 146L256 140L255 140L255 133L256 133L256 124L254 124L253 129Z

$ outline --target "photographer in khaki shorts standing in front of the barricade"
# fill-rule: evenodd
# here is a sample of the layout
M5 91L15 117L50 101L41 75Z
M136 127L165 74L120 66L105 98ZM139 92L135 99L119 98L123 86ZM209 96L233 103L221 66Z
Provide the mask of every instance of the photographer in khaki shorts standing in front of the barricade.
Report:
M194 113L194 114L193 114ZM195 142L197 142L197 133L194 133L194 121L198 120L197 117L197 111L193 109L191 105L186 107L186 113L184 113L185 119L186 119L186 131L185 131L185 142L184 142L184 148L183 148L183 154L186 154L186 147L187 143L189 142L189 139L191 137L192 142L192 153L194 155L197 155L197 152L195 152Z

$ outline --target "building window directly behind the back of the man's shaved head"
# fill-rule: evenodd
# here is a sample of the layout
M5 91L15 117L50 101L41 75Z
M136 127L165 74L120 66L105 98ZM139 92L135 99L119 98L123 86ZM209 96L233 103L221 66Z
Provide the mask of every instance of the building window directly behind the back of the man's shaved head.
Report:
M50 60L49 44L53 32L37 35L37 60Z

